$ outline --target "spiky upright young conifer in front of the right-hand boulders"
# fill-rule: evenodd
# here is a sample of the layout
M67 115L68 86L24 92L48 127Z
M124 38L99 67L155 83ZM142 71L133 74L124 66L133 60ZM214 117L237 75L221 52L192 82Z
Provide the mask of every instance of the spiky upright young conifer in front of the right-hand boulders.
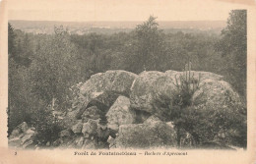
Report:
M200 114L194 115L193 112L197 111L191 110L193 108L192 96L198 89L200 80L201 75L199 75L198 79L195 79L194 74L191 74L190 68L179 77L179 81L175 76L174 85L177 89L171 102L172 108L170 110L172 116L170 118L177 131L177 142L179 145L181 145L181 137L186 136L187 132L193 137L193 144L200 142L198 134L194 132L194 124L196 124Z

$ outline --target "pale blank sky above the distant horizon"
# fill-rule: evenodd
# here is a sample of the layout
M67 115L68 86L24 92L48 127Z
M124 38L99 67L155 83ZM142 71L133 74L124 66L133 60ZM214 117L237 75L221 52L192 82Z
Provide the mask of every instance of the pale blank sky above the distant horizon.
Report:
M8 0L9 20L30 21L226 21L246 6L214 0Z

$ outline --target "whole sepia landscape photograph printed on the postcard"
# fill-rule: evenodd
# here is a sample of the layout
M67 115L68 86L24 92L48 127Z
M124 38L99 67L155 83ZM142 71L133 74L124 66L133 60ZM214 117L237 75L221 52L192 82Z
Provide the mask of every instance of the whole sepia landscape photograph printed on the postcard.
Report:
M255 90L246 4L174 1L10 0L6 136L15 155L247 151Z

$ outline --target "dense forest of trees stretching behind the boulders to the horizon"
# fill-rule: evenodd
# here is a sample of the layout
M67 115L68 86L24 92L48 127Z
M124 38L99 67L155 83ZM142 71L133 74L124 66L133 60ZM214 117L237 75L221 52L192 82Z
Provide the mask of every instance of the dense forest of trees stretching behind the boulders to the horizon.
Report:
M8 134L23 122L60 131L48 107L70 108L70 88L107 70L184 71L189 61L193 71L224 76L246 103L246 11L231 11L226 23L221 34L166 33L151 16L129 32L83 35L63 26L33 34L9 24Z

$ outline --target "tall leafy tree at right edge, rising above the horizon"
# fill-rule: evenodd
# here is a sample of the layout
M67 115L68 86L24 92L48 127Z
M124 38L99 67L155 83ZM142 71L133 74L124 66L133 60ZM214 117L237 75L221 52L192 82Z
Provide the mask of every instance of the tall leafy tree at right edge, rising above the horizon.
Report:
M216 45L225 63L224 74L229 82L246 96L247 63L247 16L245 10L230 12L227 26L222 31L222 38ZM237 81L239 80L240 81Z

